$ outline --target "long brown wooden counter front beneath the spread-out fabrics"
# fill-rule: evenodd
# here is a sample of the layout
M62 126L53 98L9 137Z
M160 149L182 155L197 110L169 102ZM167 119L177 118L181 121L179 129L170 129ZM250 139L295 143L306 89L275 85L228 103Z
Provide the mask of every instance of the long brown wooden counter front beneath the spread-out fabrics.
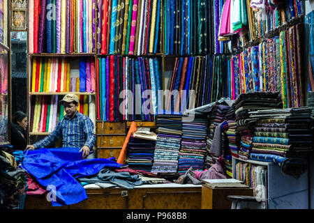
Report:
M200 209L202 185L167 183L141 185L132 190L121 187L86 189L88 199L70 206L52 207L45 197L27 196L25 209Z

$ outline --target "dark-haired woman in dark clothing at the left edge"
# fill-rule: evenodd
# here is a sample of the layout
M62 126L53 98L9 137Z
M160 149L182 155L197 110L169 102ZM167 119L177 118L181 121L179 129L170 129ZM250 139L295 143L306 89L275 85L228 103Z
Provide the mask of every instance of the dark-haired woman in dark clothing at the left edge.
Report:
M12 117L10 124L11 140L13 150L21 150L27 146L27 115L24 112L17 111Z

